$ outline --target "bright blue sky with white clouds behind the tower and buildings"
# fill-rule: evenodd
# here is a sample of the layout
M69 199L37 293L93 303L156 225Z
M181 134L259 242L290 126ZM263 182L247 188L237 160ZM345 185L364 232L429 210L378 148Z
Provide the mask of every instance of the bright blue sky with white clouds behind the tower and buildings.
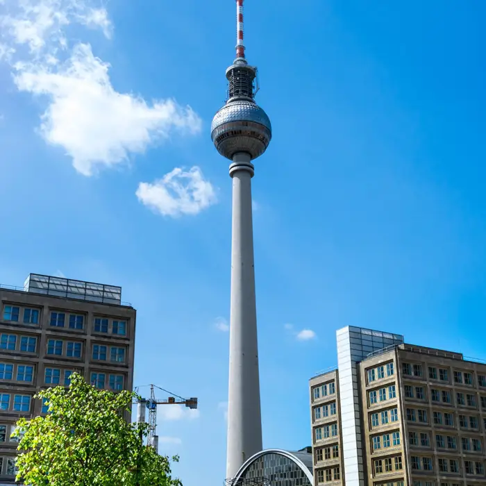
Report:
M231 179L209 128L235 4L3 0L0 14L0 282L121 285L135 384L200 401L160 410L160 450L180 453L186 486L221 484ZM485 15L246 0L274 127L253 179L265 447L310 444L308 379L336 363L342 326L486 359Z

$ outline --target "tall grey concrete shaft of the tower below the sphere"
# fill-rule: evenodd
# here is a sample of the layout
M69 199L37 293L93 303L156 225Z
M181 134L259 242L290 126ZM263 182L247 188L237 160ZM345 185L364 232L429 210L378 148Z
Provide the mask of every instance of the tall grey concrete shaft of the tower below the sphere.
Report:
M251 178L248 153L235 153L231 244L230 367L226 477L262 450Z

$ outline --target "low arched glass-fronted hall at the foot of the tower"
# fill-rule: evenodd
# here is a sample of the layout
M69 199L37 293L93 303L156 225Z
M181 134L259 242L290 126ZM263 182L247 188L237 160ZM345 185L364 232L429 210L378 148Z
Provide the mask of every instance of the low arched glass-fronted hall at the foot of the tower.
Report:
M231 480L233 486L312 486L312 448L266 449L247 459Z

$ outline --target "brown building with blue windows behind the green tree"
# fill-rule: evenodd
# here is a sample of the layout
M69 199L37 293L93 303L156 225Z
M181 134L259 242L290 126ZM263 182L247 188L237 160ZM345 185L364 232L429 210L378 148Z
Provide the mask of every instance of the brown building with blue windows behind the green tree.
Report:
M14 483L19 417L47 412L33 395L77 371L99 388L132 389L135 309L121 287L31 274L0 287L0 483Z

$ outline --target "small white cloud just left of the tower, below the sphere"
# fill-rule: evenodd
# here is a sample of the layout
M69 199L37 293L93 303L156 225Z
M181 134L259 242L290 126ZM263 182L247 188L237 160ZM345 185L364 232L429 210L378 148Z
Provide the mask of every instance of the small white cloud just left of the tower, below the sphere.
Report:
M137 198L163 216L196 215L217 202L214 187L199 167L176 167L154 183L140 183Z

